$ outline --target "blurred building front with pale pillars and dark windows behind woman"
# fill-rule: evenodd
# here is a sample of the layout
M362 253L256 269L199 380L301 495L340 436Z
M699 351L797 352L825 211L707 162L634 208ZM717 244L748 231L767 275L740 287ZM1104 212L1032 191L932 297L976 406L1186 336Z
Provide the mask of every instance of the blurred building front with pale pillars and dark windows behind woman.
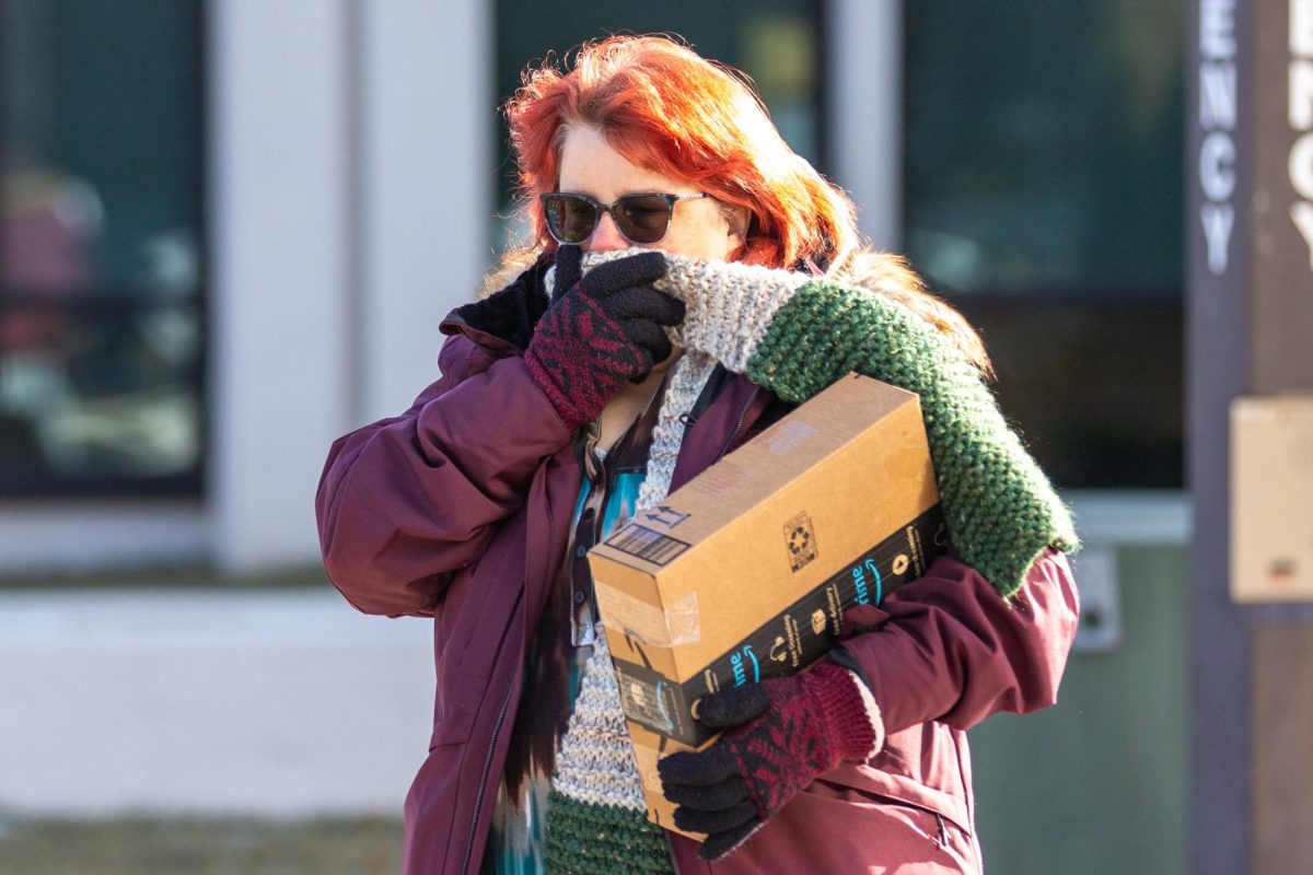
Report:
M0 805L399 811L428 624L246 584L314 565L328 445L436 379L439 320L521 232L496 113L519 71L671 31L752 75L979 328L1078 513L1064 702L974 733L991 868L1184 871L1182 4L0 14L0 575L72 575L0 593ZM215 576L148 585L160 567Z

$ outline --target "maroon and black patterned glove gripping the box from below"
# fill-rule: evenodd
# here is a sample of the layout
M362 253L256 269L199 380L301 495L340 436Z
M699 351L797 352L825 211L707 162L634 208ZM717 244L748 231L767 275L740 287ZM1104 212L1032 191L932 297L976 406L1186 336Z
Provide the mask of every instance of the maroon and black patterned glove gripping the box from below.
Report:
M706 833L699 850L706 861L747 841L817 775L843 760L864 762L884 744L871 693L830 661L702 697L699 718L727 731L706 750L659 760L656 770L678 805L675 825Z

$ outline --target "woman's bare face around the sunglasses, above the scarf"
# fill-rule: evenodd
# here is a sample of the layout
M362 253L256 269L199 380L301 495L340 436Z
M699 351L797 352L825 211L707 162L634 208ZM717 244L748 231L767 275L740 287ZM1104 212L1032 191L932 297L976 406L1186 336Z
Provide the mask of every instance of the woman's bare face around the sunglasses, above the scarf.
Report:
M599 203L614 203L625 194L697 194L691 182L646 171L613 150L596 127L567 129L561 147L561 192L587 194ZM747 226L747 211L735 209L735 226ZM739 220L739 216L742 219ZM604 213L592 236L583 243L584 252L628 249L630 243L616 228L616 220ZM659 243L645 248L662 249L705 261L729 261L743 245L742 228L731 227L722 205L713 198L678 201L670 230Z

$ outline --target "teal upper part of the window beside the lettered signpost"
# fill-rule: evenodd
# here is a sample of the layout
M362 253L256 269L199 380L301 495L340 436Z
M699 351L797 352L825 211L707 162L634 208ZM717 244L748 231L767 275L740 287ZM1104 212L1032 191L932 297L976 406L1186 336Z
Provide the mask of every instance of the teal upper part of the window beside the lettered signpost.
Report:
M936 285L1179 296L1180 4L905 8L906 243Z

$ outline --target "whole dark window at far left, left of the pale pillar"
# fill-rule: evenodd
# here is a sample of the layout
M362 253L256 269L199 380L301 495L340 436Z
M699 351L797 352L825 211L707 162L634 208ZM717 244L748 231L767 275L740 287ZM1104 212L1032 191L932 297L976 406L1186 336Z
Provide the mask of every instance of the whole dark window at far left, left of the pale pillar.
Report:
M0 0L0 496L196 492L198 0Z

